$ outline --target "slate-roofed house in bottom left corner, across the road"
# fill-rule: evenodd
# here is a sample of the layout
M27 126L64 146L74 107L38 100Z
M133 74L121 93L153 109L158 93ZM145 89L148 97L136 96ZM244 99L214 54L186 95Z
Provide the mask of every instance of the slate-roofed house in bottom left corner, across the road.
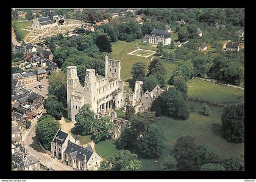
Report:
M38 158L34 155L26 155L23 152L12 154L12 165L18 170L41 170Z

